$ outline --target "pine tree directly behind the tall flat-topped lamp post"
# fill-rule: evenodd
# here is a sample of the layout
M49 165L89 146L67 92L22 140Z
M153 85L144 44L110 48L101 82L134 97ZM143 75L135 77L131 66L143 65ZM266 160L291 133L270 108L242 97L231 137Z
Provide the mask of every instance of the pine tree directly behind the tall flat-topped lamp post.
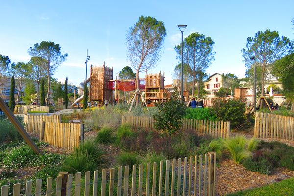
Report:
M199 71L205 72L211 62L214 60L215 52L212 51L214 41L211 37L205 37L203 34L192 33L185 38L183 43L183 60L192 70L192 95L194 95L195 80ZM181 45L175 46L177 58L181 58ZM200 78L198 78L200 81ZM198 85L198 98L200 96L200 85Z

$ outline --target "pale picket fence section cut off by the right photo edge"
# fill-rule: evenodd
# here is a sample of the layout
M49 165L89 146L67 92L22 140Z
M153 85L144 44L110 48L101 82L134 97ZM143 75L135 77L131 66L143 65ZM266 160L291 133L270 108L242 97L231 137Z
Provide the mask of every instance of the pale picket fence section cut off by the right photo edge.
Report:
M255 112L254 136L294 140L294 117Z

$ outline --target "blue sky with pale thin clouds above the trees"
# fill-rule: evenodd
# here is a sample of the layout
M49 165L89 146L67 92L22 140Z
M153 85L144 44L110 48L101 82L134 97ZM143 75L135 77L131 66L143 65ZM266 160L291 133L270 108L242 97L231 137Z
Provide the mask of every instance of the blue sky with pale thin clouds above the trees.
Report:
M178 63L174 46L180 44L178 24L188 25L184 36L199 32L215 41L215 61L207 74L234 73L245 77L241 49L257 31L276 30L294 39L294 0L2 0L0 53L13 62L28 62L29 47L42 41L60 44L68 53L55 77L78 85L88 65L114 67L114 77L130 65L125 37L139 16L164 22L167 36L157 67L149 73L165 72L165 84L172 83ZM88 66L89 67L89 66ZM89 68L88 68L89 76ZM142 74L140 77L144 77Z

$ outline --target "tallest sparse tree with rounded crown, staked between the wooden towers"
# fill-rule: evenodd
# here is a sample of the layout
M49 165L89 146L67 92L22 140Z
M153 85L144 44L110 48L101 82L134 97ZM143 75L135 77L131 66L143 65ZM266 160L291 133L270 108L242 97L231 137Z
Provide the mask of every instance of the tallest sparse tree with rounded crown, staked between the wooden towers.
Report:
M162 21L140 16L139 21L126 34L127 56L136 70L136 89L139 89L139 72L153 68L159 61L166 29ZM139 104L140 95L137 96Z

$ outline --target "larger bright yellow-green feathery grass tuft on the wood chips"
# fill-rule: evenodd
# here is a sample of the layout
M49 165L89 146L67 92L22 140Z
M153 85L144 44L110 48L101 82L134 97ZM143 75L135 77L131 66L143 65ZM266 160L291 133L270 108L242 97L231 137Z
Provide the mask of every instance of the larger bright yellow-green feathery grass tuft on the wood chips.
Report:
M245 137L236 136L234 138L228 138L223 141L224 147L230 152L233 161L240 164L245 158L251 155L251 152L247 149L247 140Z

